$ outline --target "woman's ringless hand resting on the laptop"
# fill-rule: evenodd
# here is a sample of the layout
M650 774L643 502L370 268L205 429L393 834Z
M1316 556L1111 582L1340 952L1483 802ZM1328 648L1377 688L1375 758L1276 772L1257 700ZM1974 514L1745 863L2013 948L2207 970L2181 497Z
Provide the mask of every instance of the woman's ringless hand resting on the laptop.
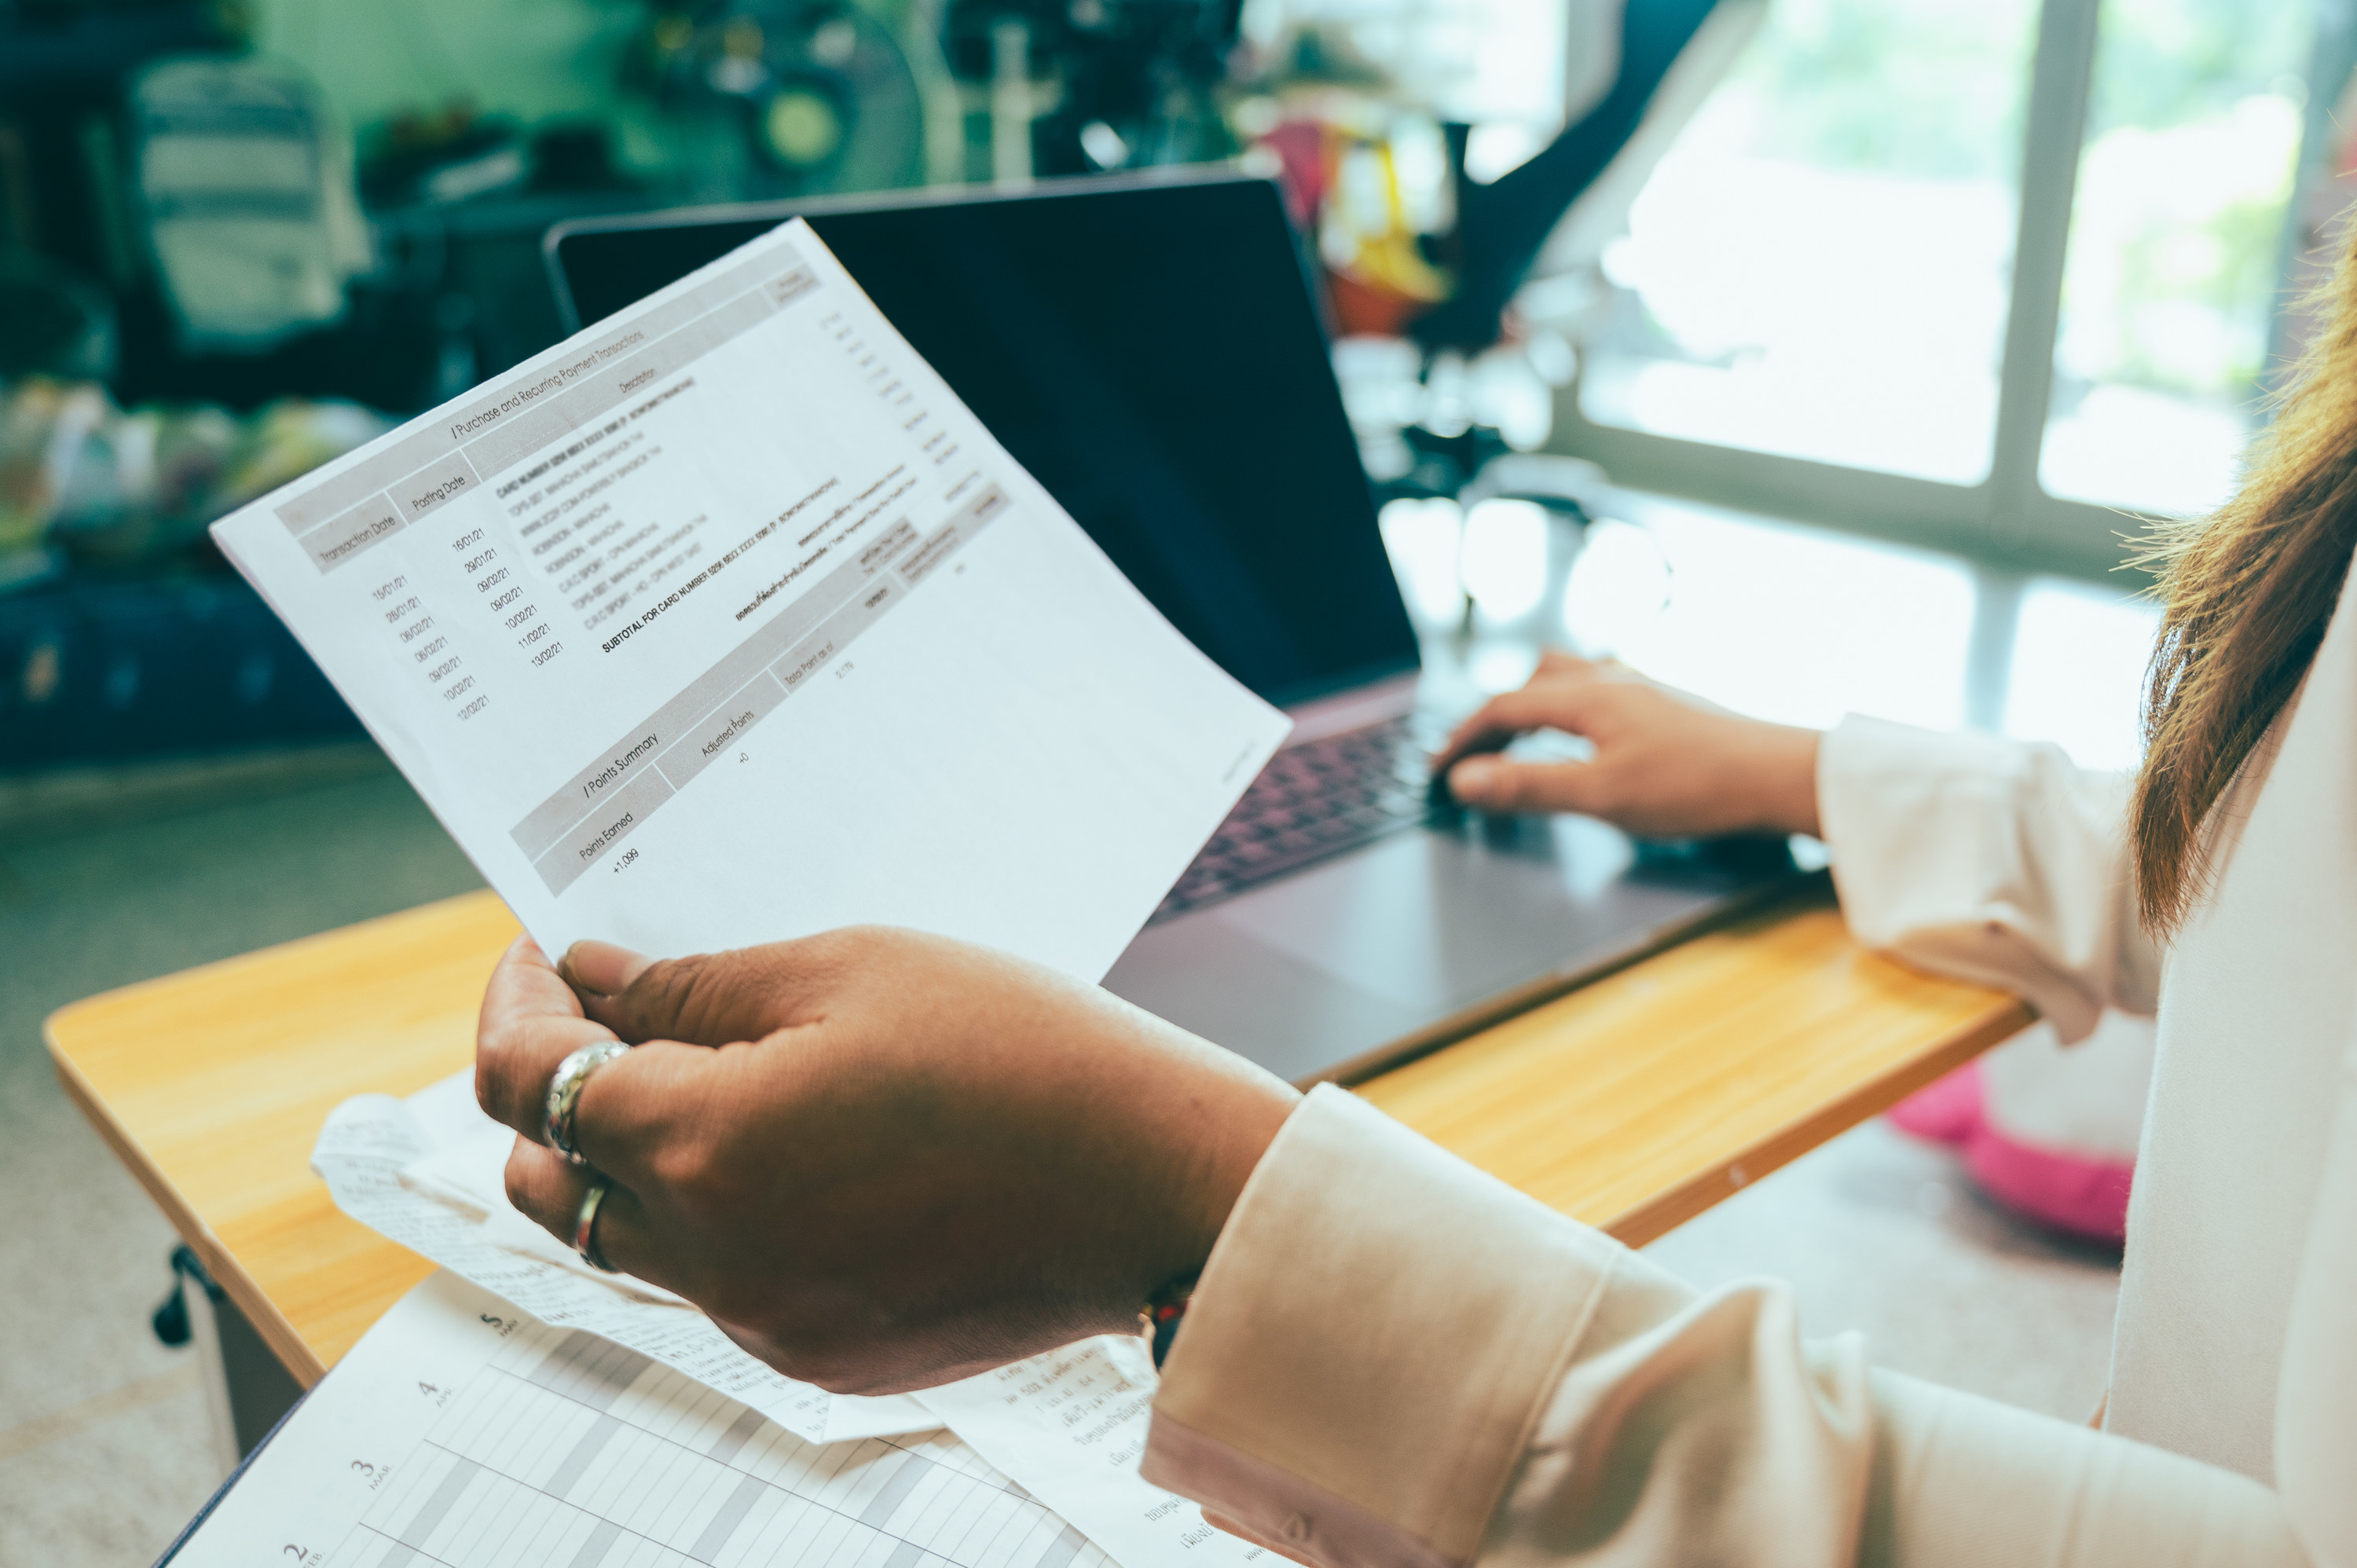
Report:
M1586 762L1499 757L1556 729ZM1817 731L1747 719L1626 665L1549 653L1457 726L1433 773L1480 811L1579 811L1643 837L1817 832Z

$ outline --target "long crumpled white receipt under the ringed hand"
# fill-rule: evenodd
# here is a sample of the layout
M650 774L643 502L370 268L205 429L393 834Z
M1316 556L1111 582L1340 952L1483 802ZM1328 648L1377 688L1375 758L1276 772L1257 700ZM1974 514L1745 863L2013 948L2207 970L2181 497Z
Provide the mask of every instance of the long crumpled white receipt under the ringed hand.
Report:
M601 1335L660 1361L717 1394L752 1405L799 1438L839 1443L940 1424L940 1417L905 1396L844 1398L780 1377L679 1297L622 1276L589 1276L573 1257L552 1259L554 1238L509 1210L504 1195L500 1210L507 1210L507 1224L486 1226L478 1212L405 1186L403 1167L434 1148L417 1111L389 1094L363 1094L328 1115L311 1151L311 1170L328 1184L335 1207L410 1252L500 1294L542 1323Z

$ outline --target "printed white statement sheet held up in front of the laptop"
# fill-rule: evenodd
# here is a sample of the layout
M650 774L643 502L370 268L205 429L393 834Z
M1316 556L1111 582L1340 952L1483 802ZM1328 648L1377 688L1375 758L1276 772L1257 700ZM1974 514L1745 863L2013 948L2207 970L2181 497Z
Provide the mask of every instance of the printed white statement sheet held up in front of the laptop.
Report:
M1287 731L799 219L214 538L549 953L1094 981Z

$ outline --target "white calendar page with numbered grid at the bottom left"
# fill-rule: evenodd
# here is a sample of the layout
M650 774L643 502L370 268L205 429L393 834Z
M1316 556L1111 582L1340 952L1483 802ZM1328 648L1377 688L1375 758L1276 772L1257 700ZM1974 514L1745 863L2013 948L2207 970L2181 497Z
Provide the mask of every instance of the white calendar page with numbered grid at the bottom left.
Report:
M945 1431L813 1445L438 1273L311 1391L184 1568L1103 1568Z

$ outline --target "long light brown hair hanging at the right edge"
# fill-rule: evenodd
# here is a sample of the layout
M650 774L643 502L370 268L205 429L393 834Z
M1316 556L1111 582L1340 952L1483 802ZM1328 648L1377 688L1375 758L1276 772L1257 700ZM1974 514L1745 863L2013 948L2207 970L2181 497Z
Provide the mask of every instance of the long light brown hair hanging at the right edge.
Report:
M2209 884L2201 823L2308 674L2357 549L2357 224L2317 299L2310 344L2242 493L2164 523L2159 644L2145 689L2145 769L2131 837L2145 927L2173 931Z

